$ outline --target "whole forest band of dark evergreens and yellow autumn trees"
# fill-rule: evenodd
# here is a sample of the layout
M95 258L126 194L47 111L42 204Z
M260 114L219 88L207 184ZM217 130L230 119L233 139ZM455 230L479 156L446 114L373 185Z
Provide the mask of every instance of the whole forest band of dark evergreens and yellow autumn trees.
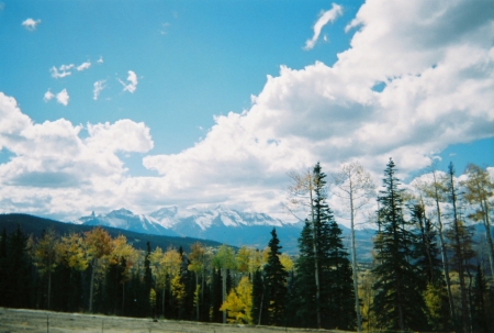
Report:
M358 164L327 176L316 164L291 175L293 204L308 214L299 254L277 231L263 249L197 242L135 248L101 227L0 234L0 306L203 322L379 332L486 333L494 326L493 181L469 165L462 180L431 170L406 190L390 159L378 193L373 262L345 248L328 189L357 210L374 186ZM339 189L339 192L338 192ZM473 242L474 223L485 233ZM154 245L154 246L153 246Z

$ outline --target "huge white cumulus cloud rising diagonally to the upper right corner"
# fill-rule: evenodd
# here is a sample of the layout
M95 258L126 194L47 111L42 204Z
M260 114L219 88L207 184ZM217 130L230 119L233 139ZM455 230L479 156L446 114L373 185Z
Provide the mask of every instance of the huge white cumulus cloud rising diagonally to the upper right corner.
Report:
M249 110L216 116L193 147L146 156L144 166L161 175L161 191L178 202L194 197L273 212L285 199L285 173L317 160L327 173L359 160L379 184L390 157L406 176L450 144L490 137L486 8L481 0L366 2L336 64L281 66Z

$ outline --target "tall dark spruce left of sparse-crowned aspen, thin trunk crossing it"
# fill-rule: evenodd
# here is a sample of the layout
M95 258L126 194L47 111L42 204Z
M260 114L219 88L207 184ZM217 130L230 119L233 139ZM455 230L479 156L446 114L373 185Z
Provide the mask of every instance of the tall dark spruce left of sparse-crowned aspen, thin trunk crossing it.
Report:
M297 275L290 307L297 309L295 325L316 328L315 309L318 307L322 313L322 328L352 330L356 325L355 295L348 253L343 246L341 230L326 203L326 175L322 171L319 164L314 167L313 177L314 223L306 220L299 238L300 256L295 263ZM314 235L321 285L318 304L314 278Z

